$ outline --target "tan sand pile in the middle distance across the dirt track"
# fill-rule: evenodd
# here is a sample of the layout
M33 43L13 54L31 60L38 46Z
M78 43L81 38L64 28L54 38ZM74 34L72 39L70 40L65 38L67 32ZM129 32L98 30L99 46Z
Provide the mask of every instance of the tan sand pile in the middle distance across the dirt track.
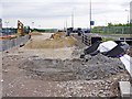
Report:
M77 44L77 40L73 36L65 36L65 33L57 32L52 34L46 40L31 40L25 47L26 48L61 48L72 47Z

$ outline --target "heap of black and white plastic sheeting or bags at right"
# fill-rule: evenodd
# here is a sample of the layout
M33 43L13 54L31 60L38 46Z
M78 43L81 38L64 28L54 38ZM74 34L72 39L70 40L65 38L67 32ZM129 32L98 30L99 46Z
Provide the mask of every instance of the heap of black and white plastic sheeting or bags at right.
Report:
M117 44L113 41L108 41L103 43L98 41L88 48L84 50L84 54L80 55L80 57L84 58L86 54L97 55L98 53L102 53L108 57L121 57L127 54L129 47L129 44L127 44L125 42Z

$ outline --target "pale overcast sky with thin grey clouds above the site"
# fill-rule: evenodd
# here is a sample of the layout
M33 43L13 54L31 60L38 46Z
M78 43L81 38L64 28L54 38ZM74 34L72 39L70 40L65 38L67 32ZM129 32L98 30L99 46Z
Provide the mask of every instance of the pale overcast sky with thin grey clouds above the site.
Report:
M95 26L127 23L132 0L91 0ZM0 0L0 18L6 28L16 28L20 20L31 28L89 28L90 0Z

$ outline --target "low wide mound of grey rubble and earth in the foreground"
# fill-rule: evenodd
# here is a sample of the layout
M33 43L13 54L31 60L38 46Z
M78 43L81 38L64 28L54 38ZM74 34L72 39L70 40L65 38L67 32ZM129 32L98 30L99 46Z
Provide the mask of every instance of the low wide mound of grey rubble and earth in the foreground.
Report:
M119 58L110 58L101 54L92 57L88 56L87 61L30 57L19 66L34 79L53 81L105 79L119 73L125 73Z

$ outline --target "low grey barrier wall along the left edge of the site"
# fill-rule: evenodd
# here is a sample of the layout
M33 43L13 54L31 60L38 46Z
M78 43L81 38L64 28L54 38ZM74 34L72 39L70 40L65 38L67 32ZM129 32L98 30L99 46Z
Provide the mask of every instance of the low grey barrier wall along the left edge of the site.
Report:
M25 44L30 40L30 35L20 36L12 40L1 40L0 41L0 52L10 50L14 46L20 46Z

